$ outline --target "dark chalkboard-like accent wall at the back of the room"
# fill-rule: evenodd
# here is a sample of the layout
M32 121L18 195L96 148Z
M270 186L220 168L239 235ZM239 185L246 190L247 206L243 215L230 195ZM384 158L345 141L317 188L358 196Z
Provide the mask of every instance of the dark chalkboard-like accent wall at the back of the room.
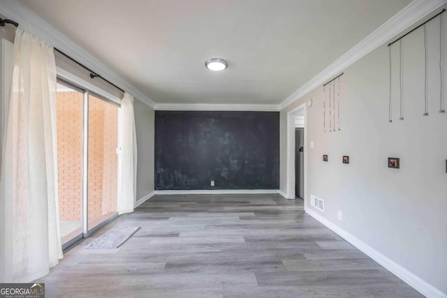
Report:
M279 112L155 111L155 188L278 189Z

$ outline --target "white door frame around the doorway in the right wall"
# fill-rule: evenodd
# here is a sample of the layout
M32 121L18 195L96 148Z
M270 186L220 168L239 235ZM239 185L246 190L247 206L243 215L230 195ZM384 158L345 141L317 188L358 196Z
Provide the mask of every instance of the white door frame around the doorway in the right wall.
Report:
M303 103L287 112L287 199L295 199L295 116L305 117L305 207L307 207L307 105Z

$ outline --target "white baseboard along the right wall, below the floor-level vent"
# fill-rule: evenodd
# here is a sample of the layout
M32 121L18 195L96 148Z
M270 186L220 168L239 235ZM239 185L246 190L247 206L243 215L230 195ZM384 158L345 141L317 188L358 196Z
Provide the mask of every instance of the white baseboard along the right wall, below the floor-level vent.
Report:
M365 242L361 241L349 232L346 232L346 230L343 230L338 225L335 225L335 223L328 221L316 211L310 208L305 208L305 211L307 214L315 218L320 223L323 223L323 225L330 228L330 230L338 234L350 244L356 246L356 248L369 256L369 258L372 258L374 261L378 262L380 265L388 269L388 271L391 271L393 274L395 274L395 276L402 279L402 281L411 285L411 287L413 287L425 297L447 298L446 293L441 292L441 290L438 290L437 288L434 288L434 286L430 285L430 283L427 283L422 278L416 276L404 267L398 265L396 262L390 260L385 255L382 255L381 253L379 253L379 251L376 251L371 246L365 244Z

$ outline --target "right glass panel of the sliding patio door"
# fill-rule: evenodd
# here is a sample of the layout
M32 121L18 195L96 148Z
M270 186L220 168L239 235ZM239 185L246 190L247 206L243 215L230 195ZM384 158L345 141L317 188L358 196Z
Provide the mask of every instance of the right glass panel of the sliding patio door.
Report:
M117 213L119 107L89 94L88 227Z

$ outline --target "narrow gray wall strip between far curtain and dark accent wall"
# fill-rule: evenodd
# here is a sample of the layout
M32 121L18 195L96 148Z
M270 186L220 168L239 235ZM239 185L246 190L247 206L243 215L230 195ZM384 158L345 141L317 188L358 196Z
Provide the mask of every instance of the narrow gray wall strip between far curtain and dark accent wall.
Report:
M137 201L154 191L154 119L152 107L134 100L137 134Z

